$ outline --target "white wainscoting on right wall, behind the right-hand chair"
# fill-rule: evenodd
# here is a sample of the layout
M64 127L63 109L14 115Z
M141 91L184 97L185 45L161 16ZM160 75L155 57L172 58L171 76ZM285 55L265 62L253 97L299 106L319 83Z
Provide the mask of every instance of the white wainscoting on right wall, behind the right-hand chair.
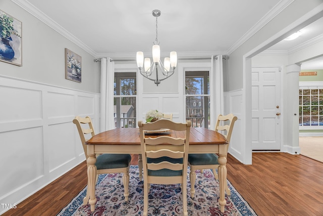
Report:
M238 120L234 124L234 128L231 135L229 153L237 158L239 161L243 161L243 149L244 143L242 140L242 90L235 90L230 92L224 92L225 114L232 113Z

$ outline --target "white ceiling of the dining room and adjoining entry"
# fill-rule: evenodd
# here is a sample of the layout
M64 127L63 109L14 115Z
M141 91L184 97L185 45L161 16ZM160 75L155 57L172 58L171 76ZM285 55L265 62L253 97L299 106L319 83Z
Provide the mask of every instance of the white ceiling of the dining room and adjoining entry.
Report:
M70 37L94 57L128 56L151 52L156 37L164 55L228 54L239 47L289 0L12 0L57 31ZM286 15L288 16L288 15ZM323 18L307 26L294 41L282 41L271 50L286 50L323 37ZM323 67L322 67L323 68Z

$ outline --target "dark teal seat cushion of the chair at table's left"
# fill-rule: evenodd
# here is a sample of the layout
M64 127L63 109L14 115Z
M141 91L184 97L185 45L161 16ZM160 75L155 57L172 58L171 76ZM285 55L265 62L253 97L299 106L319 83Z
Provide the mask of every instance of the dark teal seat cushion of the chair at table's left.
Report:
M130 154L101 154L96 158L96 169L115 169L128 167L131 161Z

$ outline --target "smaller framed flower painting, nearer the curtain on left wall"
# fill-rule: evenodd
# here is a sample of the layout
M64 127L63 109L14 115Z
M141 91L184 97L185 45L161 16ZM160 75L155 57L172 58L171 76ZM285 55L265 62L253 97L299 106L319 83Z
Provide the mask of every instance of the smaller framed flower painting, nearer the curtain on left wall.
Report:
M81 82L82 57L65 48L65 79Z

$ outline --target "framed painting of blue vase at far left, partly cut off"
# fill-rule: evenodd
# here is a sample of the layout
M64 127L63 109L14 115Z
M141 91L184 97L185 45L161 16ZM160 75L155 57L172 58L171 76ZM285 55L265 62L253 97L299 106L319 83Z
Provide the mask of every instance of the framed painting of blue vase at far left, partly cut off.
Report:
M0 10L0 61L22 66L22 22Z

